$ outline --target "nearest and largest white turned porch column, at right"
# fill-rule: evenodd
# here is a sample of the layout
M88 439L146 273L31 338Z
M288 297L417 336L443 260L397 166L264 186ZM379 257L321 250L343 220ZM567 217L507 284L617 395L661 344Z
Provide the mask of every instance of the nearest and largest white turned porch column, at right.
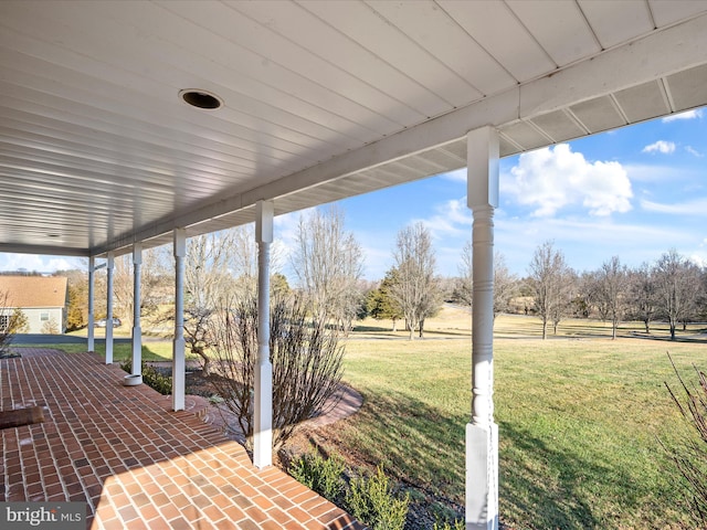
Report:
M494 209L498 206L498 132L467 135L472 258L472 423L466 425L466 529L498 528L498 425L494 423Z

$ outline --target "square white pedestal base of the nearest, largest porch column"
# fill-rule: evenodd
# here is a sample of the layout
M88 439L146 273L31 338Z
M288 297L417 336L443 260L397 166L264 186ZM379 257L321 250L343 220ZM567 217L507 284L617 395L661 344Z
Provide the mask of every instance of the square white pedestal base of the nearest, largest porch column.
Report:
M466 425L466 530L498 529L498 425Z

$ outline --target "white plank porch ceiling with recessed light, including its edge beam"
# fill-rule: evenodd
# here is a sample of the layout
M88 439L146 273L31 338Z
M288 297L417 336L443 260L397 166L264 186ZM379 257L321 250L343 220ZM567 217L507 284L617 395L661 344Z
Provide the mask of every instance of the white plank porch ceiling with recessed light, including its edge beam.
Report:
M476 127L507 156L705 104L703 0L3 0L0 252L127 252L462 168Z

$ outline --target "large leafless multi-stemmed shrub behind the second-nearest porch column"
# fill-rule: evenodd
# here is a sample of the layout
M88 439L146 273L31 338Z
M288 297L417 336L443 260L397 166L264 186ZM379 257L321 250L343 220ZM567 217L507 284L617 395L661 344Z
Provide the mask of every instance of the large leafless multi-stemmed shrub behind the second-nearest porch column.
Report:
M257 358L257 303L254 296L234 300L213 320L213 378L250 445L253 437L253 384ZM344 348L336 331L313 325L302 298L275 297L271 307L273 364L273 431L275 447L292 436L297 424L336 403L341 382Z

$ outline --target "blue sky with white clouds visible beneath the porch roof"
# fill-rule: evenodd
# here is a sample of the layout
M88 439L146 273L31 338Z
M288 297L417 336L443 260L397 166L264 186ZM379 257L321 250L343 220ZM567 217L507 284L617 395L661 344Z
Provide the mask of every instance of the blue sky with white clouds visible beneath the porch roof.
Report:
M500 173L495 247L519 276L548 240L578 272L614 255L629 266L652 263L673 247L707 265L706 109L505 158ZM382 278L398 231L418 221L433 235L440 274L458 274L472 233L465 171L339 205L363 248L368 279ZM297 216L278 218L276 237L286 242ZM0 271L80 266L76 258L0 254Z

